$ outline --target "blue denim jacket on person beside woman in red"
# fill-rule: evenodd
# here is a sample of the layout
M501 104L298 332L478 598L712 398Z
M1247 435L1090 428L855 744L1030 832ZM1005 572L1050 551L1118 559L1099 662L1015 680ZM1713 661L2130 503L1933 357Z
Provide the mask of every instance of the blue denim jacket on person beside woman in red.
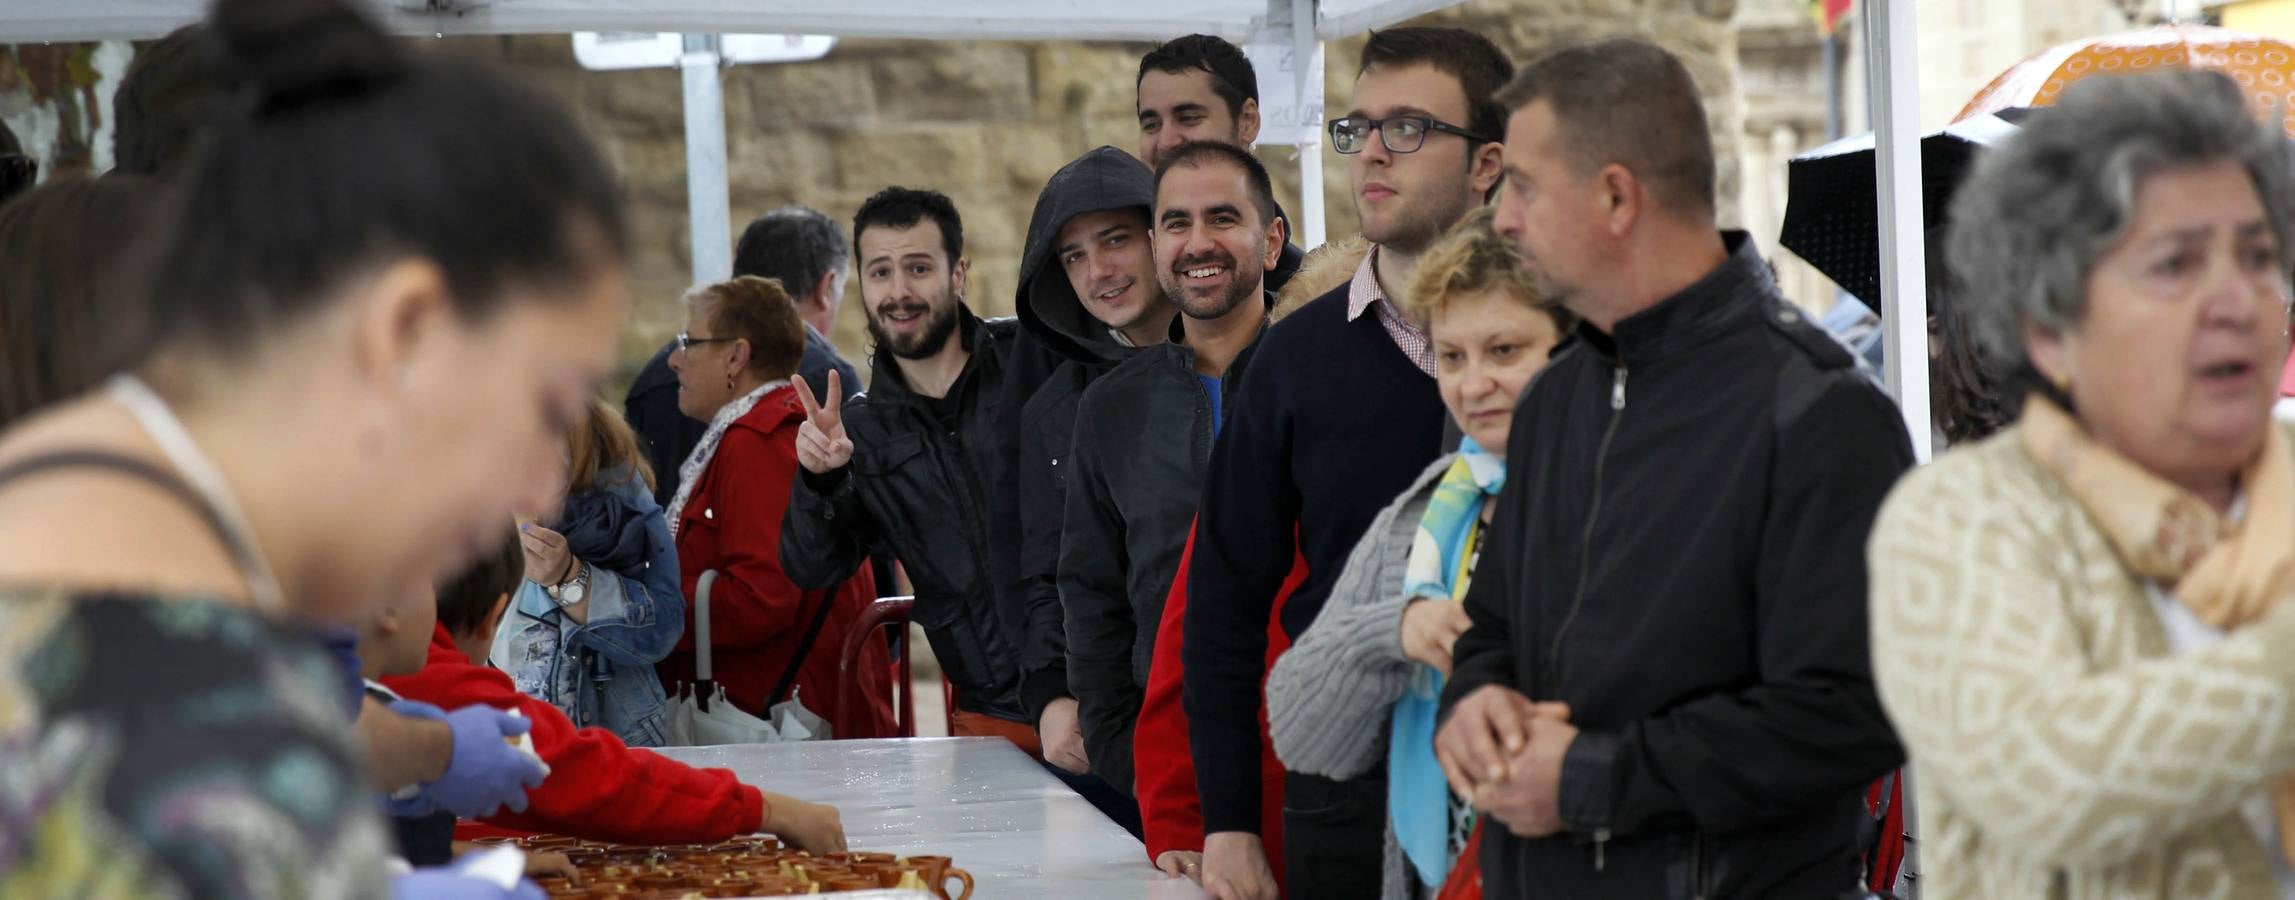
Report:
M599 473L599 484L647 510L652 560L636 576L590 567L588 624L567 618L542 585L521 583L496 631L491 661L521 693L549 700L574 726L604 726L629 746L661 746L666 696L654 664L686 631L677 542L661 505L629 468Z

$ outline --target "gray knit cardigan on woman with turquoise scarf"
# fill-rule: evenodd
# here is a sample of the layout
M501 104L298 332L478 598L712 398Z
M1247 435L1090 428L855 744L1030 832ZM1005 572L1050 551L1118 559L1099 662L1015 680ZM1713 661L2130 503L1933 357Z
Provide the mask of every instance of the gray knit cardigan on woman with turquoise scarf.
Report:
M1427 466L1370 521L1322 613L1267 673L1267 728L1283 769L1354 778L1386 765L1386 721L1416 666L1402 654L1402 606L1411 599L1402 595L1402 569L1450 459L1455 455ZM1379 898L1423 900L1411 895L1391 820L1382 856Z

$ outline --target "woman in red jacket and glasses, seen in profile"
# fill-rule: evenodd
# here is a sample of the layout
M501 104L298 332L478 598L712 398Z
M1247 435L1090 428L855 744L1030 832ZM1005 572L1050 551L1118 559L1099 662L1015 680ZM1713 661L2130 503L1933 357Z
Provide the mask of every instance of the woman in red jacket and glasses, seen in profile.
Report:
M838 707L838 654L861 611L877 599L868 569L838 590L799 590L780 569L780 514L796 480L796 425L806 413L789 386L806 349L806 326L780 282L734 278L686 294L677 335L677 409L709 422L679 468L670 528L684 576L686 636L661 661L661 682L693 682L693 590L709 590L711 677L734 707L767 716L792 696L831 719ZM886 647L865 641L858 689L865 703L831 719L835 737L893 732Z

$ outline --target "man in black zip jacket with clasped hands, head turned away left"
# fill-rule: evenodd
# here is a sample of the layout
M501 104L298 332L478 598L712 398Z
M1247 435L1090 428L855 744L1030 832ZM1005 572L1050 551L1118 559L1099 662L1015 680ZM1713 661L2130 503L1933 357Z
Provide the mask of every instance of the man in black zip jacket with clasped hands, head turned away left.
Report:
M1567 48L1499 99L1499 232L1584 326L1515 413L1434 742L1494 820L1485 891L1854 891L1864 788L1903 762L1864 542L1912 464L1905 422L1751 239L1714 230L1680 60Z

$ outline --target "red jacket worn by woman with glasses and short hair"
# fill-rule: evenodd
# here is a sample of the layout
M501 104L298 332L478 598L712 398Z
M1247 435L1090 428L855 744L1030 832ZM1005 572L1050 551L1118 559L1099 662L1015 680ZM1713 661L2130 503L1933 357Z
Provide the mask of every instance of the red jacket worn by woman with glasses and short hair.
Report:
M893 675L884 641L868 641L856 666L856 689L868 698L854 705L858 721L835 721L842 689L838 657L854 622L877 599L877 579L861 567L835 592L799 590L780 569L780 514L796 482L796 427L803 420L796 388L767 393L757 409L725 429L716 457L693 484L677 521L686 634L661 661L661 684L675 696L677 684L693 682L693 588L702 572L716 569L718 581L709 590L711 675L737 707L764 714L767 693L789 670L819 604L828 602L835 606L796 670L796 696L806 709L828 719L835 737L890 737Z

